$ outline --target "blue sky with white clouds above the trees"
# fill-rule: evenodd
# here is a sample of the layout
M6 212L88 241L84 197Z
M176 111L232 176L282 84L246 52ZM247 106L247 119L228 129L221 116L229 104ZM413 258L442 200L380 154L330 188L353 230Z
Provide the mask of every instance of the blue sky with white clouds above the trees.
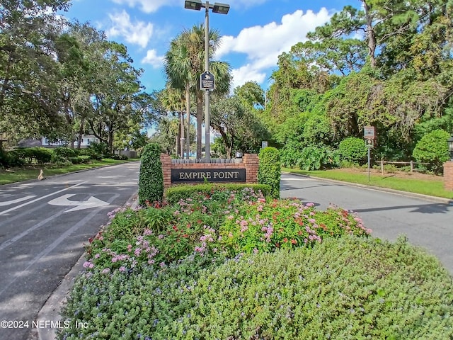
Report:
M326 23L343 6L360 6L359 0L219 2L229 4L230 10L227 15L210 11L210 28L222 35L214 59L231 64L233 88L257 81L264 89L277 67L278 55L306 40L306 33ZM162 57L171 40L205 21L204 8L185 9L184 0L72 0L71 4L64 16L88 21L109 40L127 46L134 67L144 69L142 84L147 92L164 89Z

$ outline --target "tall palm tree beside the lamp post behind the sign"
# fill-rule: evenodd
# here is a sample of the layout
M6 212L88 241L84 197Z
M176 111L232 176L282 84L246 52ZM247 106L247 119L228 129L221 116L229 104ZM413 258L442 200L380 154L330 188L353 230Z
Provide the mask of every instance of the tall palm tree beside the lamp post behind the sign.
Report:
M210 56L220 44L217 30L210 30ZM203 122L203 91L200 90L200 74L205 71L205 26L195 25L183 30L171 42L165 57L165 72L168 84L176 89L185 89L186 111L190 112L190 92L195 93L197 103L197 158L201 158L201 135ZM231 81L227 62L210 61L210 72L216 79L216 92L228 94ZM188 127L186 127L188 128Z

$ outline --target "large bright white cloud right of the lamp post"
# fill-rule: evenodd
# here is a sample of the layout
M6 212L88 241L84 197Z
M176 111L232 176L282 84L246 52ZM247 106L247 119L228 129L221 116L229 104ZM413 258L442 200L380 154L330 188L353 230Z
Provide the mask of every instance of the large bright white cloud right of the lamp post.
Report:
M215 59L220 60L231 52L245 54L248 64L234 70L234 86L258 79L261 79L258 81L261 83L265 80L265 69L275 67L282 52L289 52L297 42L306 41L306 33L328 22L330 18L331 13L326 8L321 8L318 13L298 10L282 16L281 23L244 28L237 37L228 35L222 38Z

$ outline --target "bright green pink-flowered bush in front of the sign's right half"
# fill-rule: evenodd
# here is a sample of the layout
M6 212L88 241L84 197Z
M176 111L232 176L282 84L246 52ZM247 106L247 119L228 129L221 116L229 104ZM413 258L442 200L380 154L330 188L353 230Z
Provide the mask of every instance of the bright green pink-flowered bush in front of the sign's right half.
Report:
M230 254L237 254L311 247L324 237L370 233L357 215L341 208L317 211L313 203L299 200L258 200L227 215L220 237Z

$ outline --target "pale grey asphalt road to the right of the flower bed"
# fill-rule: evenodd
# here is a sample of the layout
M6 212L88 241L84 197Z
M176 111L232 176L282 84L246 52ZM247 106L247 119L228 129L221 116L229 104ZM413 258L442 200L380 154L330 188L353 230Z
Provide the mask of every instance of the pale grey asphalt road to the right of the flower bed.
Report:
M394 241L406 235L453 274L453 205L296 175L282 175L280 189L282 198L299 198L320 210L333 204L357 212L374 237Z

